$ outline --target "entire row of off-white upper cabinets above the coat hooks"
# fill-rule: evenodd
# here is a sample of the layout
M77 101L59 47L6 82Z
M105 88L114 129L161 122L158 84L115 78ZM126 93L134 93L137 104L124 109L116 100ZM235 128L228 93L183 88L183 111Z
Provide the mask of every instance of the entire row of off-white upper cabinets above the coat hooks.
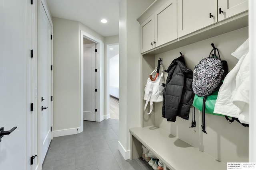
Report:
M160 53L248 26L247 11L248 0L156 0L137 19L141 53Z

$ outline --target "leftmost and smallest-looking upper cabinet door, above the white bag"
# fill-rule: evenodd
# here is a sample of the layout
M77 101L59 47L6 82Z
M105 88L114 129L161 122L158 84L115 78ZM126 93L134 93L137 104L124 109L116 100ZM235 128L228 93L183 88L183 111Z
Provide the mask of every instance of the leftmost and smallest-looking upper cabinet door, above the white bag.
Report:
M141 52L148 51L154 46L154 15L150 16L140 25ZM153 45L152 45L153 44Z

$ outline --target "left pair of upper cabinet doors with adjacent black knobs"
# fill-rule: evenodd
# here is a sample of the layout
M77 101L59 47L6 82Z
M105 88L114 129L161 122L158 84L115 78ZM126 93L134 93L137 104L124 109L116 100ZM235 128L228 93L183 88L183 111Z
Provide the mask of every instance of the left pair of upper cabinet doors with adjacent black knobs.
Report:
M177 39L177 3L168 0L140 24L141 53Z

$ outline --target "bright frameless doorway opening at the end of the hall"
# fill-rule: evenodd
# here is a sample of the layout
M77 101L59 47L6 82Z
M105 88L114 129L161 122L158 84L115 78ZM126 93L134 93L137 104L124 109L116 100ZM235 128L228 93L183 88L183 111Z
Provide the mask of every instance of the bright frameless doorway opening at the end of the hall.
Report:
M119 44L107 45L109 60L109 114L119 119Z

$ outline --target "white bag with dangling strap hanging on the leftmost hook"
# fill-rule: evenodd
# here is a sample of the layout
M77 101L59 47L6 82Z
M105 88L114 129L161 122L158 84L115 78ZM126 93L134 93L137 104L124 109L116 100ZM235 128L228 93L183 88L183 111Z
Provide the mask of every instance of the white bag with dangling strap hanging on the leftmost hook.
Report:
M148 77L147 84L145 86L145 94L144 94L144 100L146 100L146 104L144 107L144 111L146 112L146 107L150 106L150 111L147 113L150 115L150 113L153 110L153 102L163 102L163 95L164 95L164 86L162 84L164 83L164 72L163 72L163 66L161 66L161 74L156 78L155 81L150 80ZM156 74L157 68L154 69L154 71L150 75Z

